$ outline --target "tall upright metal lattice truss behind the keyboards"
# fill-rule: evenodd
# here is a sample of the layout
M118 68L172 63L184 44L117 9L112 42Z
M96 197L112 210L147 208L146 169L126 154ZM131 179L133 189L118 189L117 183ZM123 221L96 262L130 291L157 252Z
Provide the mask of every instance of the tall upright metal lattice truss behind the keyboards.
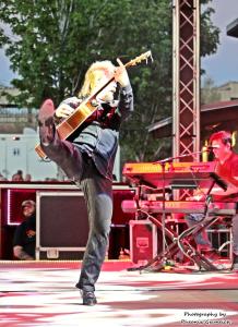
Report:
M200 161L200 0L175 0L172 22L172 155Z

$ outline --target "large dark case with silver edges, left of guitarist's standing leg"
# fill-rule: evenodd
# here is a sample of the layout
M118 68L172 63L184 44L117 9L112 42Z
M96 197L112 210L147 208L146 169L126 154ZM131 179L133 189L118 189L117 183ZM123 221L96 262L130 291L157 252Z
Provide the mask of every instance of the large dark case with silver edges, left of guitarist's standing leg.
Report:
M87 235L82 192L36 193L36 259L80 259Z

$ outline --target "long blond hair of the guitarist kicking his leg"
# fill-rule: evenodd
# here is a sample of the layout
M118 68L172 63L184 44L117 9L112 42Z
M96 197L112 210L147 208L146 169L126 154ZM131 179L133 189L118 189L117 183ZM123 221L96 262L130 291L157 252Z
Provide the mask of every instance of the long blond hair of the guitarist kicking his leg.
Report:
M97 71L103 71L105 75L108 76L109 80L110 77L112 77L112 74L115 72L115 65L109 60L96 61L92 63L92 65L86 71L83 86L78 95L79 97L83 97L83 98L87 97L95 88Z

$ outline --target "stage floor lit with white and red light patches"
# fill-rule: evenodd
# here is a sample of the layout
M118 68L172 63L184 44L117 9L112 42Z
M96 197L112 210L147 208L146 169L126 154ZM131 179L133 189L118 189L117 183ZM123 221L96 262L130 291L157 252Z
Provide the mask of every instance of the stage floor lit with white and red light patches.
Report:
M98 304L74 287L81 262L0 262L0 326L238 326L238 274L128 271L106 261Z

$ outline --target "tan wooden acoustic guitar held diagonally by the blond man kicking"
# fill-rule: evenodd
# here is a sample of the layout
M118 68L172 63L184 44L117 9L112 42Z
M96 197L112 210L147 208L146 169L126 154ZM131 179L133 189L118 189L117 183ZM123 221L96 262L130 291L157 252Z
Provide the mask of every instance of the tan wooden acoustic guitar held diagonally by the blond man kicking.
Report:
M152 58L151 51L144 52L141 56L130 60L128 63L124 64L126 68L136 65L143 60L147 60ZM60 122L56 130L59 134L60 140L67 140L73 132L75 132L96 110L97 107L93 106L96 96L109 85L115 77L108 80L103 86L97 88L92 95L90 95L85 100L83 100L75 110L66 118L62 122ZM46 159L47 156L44 153L40 144L36 145L35 147L36 153L43 159Z

